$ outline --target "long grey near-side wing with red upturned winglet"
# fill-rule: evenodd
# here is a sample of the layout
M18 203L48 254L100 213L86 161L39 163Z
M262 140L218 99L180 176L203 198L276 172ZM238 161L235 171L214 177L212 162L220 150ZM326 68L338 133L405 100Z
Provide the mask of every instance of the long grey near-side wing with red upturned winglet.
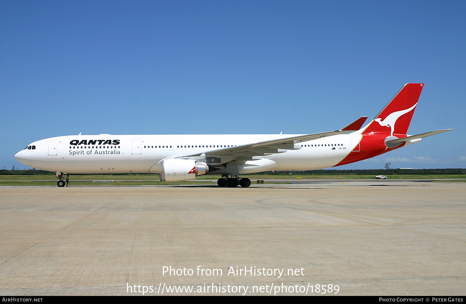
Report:
M244 158L244 160L248 160L247 158L250 159L250 157L252 156L264 156L276 153L283 153L287 150L301 149L301 147L296 144L299 142L307 142L317 138L328 137L338 134L347 134L357 131L359 128L361 128L366 119L367 117L360 117L356 121L351 122L348 126L342 128L341 130L285 137L263 142L254 142L230 148L209 150L198 154L178 156L178 158L190 158L201 155L216 155L221 156L220 162L224 163L238 158Z

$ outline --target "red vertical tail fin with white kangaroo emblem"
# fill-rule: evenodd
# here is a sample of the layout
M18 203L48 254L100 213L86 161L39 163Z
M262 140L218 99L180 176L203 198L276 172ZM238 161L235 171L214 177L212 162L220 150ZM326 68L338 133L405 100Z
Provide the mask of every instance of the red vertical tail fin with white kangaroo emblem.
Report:
M408 132L424 83L407 83L374 118L363 134L401 134Z

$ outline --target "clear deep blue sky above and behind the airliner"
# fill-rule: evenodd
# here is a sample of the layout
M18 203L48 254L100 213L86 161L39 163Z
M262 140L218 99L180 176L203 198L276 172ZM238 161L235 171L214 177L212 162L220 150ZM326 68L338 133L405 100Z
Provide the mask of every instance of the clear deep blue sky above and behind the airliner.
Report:
M1 1L0 165L82 134L308 134L425 83L409 128L338 169L465 168L464 1Z

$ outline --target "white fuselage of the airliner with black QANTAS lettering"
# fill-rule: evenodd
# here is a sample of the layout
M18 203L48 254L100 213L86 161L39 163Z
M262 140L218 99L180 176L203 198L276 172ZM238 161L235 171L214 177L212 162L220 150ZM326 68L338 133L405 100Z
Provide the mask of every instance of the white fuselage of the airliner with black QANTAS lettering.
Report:
M161 161L174 155L206 153L290 136L297 135L69 135L33 142L30 146L35 149L21 150L15 158L30 167L66 173L161 173ZM300 142L302 149L262 156L277 165L258 165L256 172L333 167L360 138L360 134L342 134Z

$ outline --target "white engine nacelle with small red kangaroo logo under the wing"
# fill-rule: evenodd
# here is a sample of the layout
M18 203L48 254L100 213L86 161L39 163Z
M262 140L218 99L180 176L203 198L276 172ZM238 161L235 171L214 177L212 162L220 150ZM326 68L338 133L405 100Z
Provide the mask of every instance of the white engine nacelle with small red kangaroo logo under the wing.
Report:
M164 182L181 182L196 178L199 175L209 173L209 167L205 162L197 162L189 159L165 159L162 161L162 176Z

